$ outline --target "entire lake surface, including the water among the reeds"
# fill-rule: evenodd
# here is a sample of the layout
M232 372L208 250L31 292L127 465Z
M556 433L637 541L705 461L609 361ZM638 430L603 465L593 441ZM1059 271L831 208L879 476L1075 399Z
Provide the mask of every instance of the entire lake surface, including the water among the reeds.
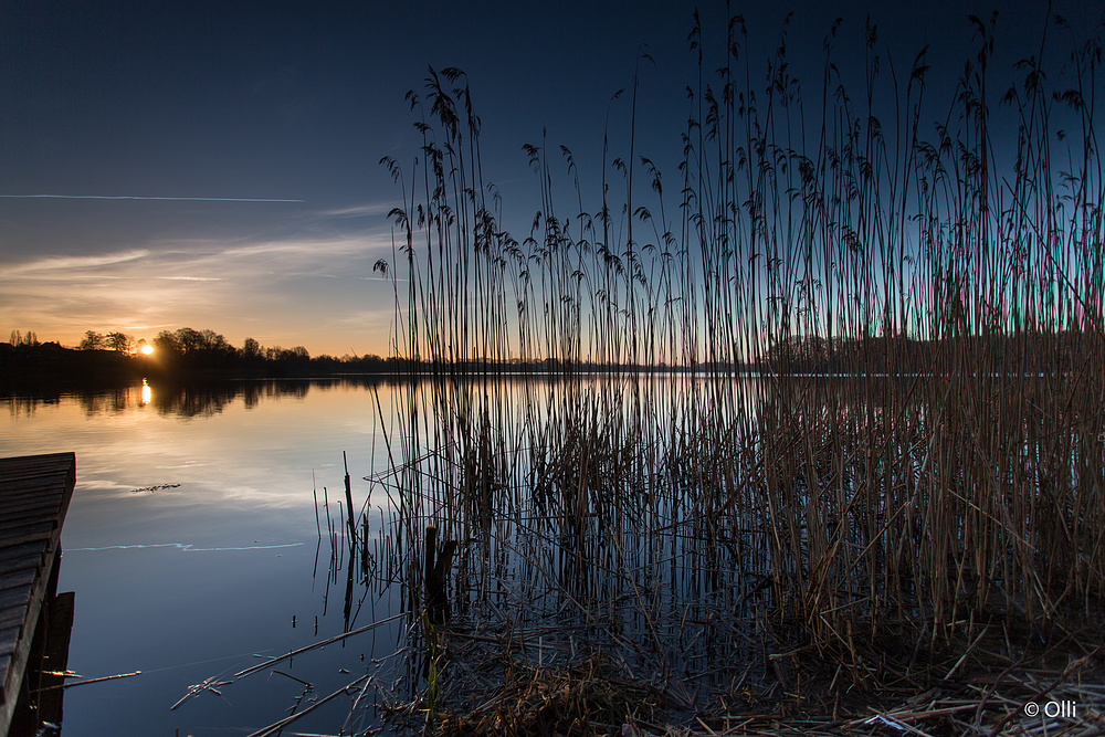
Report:
M1090 391L1063 375L137 385L2 400L0 449L76 453L69 667L141 672L67 689L66 736L244 736L307 708L285 735L411 734L428 713L452 734L501 712L516 734L630 714L720 727L788 708L788 684L845 698L913 672L937 627L945 677L976 622L1096 617ZM441 570L431 523L455 552ZM1031 653L1010 631L969 667Z

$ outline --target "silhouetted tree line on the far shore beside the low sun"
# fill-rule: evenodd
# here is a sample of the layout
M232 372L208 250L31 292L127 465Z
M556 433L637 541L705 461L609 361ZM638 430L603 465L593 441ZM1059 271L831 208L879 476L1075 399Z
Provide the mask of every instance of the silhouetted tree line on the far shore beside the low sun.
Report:
M10 343L0 343L0 388L49 385L102 385L143 378L189 380L214 378L288 378L337 375L422 376L451 373L549 372L561 376L566 365L541 361L465 361L451 365L380 356L312 357L303 346L265 347L254 338L231 345L214 330L189 327L162 330L154 338L152 354L139 351L144 340L122 331L85 334L77 349L57 343L40 343L33 331L13 330ZM905 335L873 335L828 339L792 336L768 351L766 365L754 367L780 373L945 373L987 371L1048 373L1076 370L1086 360L1102 360L1105 348L1098 337L1076 331L993 331L941 340L920 340ZM570 370L585 373L638 370L682 370L686 367L611 366L587 361ZM711 370L699 365L697 370ZM736 367L713 367L732 370Z

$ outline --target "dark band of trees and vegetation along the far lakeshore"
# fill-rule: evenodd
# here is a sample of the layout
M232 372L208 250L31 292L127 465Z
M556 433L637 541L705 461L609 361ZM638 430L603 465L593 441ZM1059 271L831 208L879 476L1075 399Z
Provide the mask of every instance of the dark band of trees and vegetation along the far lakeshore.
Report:
M177 336L193 334L200 343L191 344ZM210 336L203 339L203 336ZM162 331L154 340L154 351L138 352L134 340L125 349L106 347L66 348L57 343L40 343L34 333L12 334L11 343L0 343L0 391L62 386L119 386L143 379L155 381L203 381L229 379L276 379L313 377L375 377L394 380L413 377L450 376L545 376L558 379L579 375L693 373L702 376L789 376L846 377L872 376L912 378L936 376L937 357L951 349L937 340L905 336L873 336L865 340L828 341L799 335L772 346L767 356L754 362L613 364L597 360L549 358L544 360L472 359L451 362L376 355L341 358L311 356L305 348L265 348L246 339L236 348L212 330L182 328L176 334ZM967 349L983 354L987 360L972 369L983 373L1050 375L1077 371L1093 356L1092 336L1071 330L1032 333L1019 336L976 335L966 338ZM853 373L856 366L863 370ZM959 373L959 370L955 370ZM950 376L947 373L945 376Z

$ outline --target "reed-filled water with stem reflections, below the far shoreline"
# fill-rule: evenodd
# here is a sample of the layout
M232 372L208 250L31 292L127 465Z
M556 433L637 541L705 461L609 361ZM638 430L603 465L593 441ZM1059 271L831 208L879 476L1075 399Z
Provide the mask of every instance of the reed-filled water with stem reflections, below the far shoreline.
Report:
M427 525L459 541L445 632L462 639L600 657L697 712L737 681L786 681L798 652L863 678L872 652L938 660L975 621L1099 611L1101 419L1076 376L441 386L397 389L418 410L392 431L409 460L369 480L415 615ZM1070 417L1039 409L1055 394Z

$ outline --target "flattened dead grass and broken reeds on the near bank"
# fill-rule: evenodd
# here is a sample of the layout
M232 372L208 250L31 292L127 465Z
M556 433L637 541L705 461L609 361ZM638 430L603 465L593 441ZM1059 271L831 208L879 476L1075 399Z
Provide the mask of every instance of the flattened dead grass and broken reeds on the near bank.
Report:
M809 649L772 653L755 675L749 668L691 708L694 683L632 680L624 663L601 650L585 655L582 644L573 662L545 666L517 641L463 631L441 636L442 685L432 718L422 701L392 710L434 735L1083 735L1105 728L1105 649L1073 657L1080 649L1071 642L1011 660L990 652L1003 643L983 633L967 652L911 662L872 649L852 666ZM545 657L556 650L546 649ZM1027 713L1029 704L1040 713Z

